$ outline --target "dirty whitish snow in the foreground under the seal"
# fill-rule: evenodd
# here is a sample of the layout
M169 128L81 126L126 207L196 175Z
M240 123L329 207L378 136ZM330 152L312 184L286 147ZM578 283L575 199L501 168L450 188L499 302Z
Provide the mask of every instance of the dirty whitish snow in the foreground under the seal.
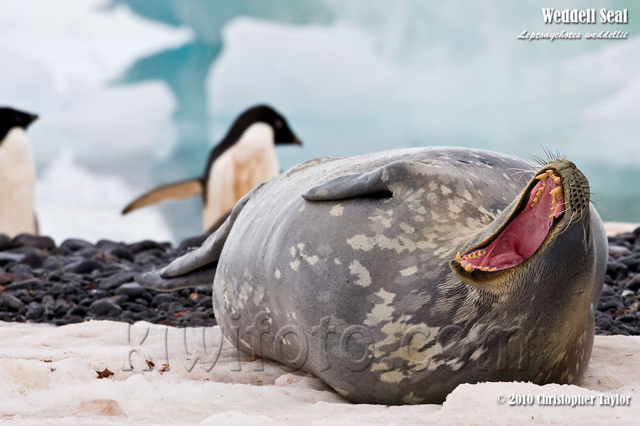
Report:
M220 348L218 327L0 322L0 342L0 423L630 425L640 415L640 337L596 337L581 387L464 384L443 405L391 407L351 404L319 379L288 373L270 361L262 368L262 360L239 354L226 341L214 364ZM209 359L196 351L197 342L206 342ZM127 371L132 350L137 351L131 356L133 370ZM152 371L147 360L155 364ZM161 372L163 364L170 368ZM98 379L96 371L105 368L113 376ZM496 395L509 393L620 394L631 395L631 404L610 408L597 399L594 406L579 407L496 403Z

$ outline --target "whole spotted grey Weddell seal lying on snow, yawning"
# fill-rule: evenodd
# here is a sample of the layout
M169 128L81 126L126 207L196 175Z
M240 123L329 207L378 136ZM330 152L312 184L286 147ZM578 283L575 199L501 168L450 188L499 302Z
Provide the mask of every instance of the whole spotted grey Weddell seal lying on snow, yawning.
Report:
M357 403L573 383L591 356L607 239L574 163L540 163L451 147L311 160L137 280L213 283L233 344Z

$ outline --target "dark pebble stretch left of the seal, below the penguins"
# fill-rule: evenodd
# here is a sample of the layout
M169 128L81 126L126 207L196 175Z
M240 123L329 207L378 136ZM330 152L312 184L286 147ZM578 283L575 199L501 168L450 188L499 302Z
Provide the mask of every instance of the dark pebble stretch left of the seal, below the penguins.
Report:
M56 246L48 236L0 234L0 320L87 320L173 326L215 325L211 286L160 293L134 282L136 273L166 265L198 247L206 236L169 243L133 244L68 239Z

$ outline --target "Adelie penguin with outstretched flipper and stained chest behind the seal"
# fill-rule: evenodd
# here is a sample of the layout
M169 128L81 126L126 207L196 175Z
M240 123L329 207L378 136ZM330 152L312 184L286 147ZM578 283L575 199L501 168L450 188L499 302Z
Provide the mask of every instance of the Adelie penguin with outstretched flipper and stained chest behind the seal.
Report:
M276 144L302 145L278 111L267 105L247 109L209 154L202 177L156 187L129 203L122 214L202 194L203 231L213 231L243 195L280 173Z

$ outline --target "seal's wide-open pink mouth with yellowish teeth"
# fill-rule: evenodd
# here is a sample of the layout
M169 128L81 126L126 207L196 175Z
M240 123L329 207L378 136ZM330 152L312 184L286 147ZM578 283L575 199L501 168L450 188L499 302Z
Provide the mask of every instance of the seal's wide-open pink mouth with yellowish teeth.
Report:
M562 179L548 169L536 176L518 207L488 243L464 253L456 261L464 271L500 271L528 259L565 212Z

